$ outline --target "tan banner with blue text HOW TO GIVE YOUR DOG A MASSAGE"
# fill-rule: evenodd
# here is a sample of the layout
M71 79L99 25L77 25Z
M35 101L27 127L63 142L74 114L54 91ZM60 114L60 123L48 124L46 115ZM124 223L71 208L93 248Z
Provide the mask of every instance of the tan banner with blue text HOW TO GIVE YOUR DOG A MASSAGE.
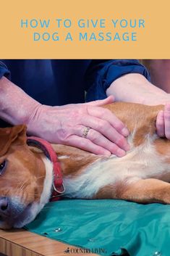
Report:
M170 59L169 1L1 1L1 59Z

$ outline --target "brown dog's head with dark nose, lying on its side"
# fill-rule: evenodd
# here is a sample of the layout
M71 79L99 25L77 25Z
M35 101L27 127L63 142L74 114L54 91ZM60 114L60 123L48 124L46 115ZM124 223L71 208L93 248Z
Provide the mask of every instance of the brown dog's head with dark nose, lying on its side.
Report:
M0 128L0 228L20 228L41 210L46 171L27 146L25 125Z

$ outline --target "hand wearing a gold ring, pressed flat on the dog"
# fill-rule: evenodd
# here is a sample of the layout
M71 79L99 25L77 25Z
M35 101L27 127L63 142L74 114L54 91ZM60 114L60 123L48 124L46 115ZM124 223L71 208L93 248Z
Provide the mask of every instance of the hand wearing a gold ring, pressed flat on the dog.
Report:
M61 107L38 105L27 122L28 133L51 143L76 146L94 154L123 157L129 149L126 136L129 131L103 105L112 103L113 96L85 104ZM83 136L89 127L87 136Z

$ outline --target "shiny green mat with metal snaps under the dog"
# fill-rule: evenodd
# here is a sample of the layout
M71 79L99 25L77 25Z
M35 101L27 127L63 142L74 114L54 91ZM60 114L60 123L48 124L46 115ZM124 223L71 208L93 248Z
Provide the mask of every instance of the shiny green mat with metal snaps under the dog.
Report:
M46 205L25 228L99 255L170 255L170 205L64 199Z

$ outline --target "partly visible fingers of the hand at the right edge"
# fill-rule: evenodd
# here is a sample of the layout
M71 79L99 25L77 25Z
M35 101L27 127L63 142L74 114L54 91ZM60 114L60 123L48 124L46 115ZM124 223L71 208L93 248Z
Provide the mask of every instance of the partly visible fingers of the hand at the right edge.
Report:
M164 110L158 112L156 131L158 136L170 139L170 104L165 104Z

